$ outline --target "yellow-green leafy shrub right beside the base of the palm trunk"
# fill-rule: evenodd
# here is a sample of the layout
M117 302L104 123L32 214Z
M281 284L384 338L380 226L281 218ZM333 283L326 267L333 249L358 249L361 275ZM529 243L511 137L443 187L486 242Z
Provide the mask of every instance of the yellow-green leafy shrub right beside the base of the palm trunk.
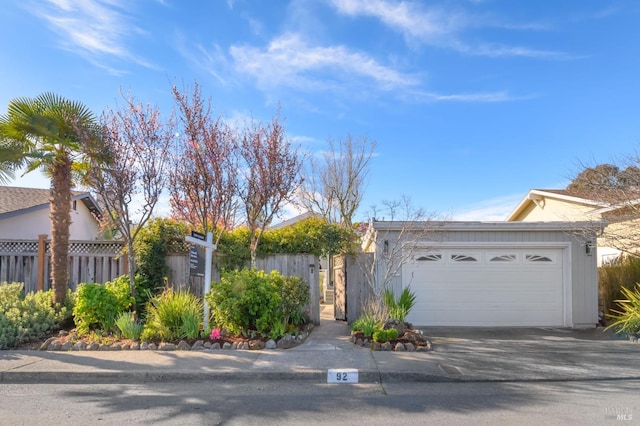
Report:
M79 335L91 330L109 332L116 318L133 303L129 294L128 277L119 277L104 285L98 283L78 285L73 320Z

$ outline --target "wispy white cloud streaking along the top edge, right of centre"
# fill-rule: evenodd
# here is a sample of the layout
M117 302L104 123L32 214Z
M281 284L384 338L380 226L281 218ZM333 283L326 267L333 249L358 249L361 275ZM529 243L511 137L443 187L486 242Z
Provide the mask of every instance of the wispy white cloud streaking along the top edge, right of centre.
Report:
M338 13L373 17L401 33L408 42L454 50L466 55L501 57L520 56L544 59L570 59L571 55L544 49L507 44L464 41L463 33L477 27L514 30L548 29L540 23L505 23L495 18L471 16L463 9L445 9L424 3L396 0L330 0Z

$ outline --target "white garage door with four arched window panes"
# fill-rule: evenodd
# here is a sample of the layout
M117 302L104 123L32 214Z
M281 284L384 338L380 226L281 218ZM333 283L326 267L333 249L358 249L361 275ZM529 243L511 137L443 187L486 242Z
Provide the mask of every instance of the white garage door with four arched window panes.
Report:
M563 326L563 250L442 249L403 265L422 326Z

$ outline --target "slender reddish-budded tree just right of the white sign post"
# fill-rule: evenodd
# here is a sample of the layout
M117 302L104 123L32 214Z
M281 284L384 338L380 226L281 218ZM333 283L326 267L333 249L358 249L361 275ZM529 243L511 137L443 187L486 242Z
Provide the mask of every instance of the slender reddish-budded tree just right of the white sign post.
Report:
M244 164L239 195L251 232L251 266L255 267L265 228L292 201L300 184L302 159L286 137L279 111L266 127L250 123L240 141L240 156Z

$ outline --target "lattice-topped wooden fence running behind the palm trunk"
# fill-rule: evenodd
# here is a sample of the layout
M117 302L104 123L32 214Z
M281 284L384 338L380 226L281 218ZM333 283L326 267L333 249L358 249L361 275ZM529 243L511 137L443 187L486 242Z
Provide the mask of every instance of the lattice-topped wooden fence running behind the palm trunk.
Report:
M104 283L125 274L126 256L118 241L70 241L68 288L79 283ZM48 290L50 241L0 240L0 283L23 282L25 292Z

